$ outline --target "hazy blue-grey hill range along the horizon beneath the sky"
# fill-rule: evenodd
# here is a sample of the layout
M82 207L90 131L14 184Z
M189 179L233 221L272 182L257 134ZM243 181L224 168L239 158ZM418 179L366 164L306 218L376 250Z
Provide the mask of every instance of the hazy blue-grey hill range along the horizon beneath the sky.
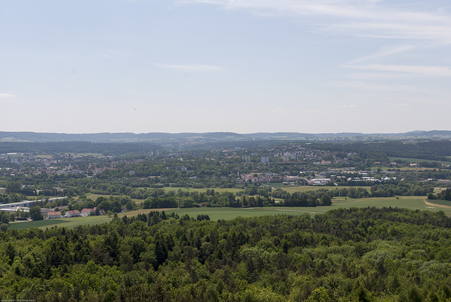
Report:
M42 133L42 132L0 132L0 142L57 142L57 141L89 141L92 143L154 143L154 144L183 144L210 143L226 141L261 141L261 140L378 140L378 139L451 139L451 131L413 131L393 134L364 134L364 133L319 133L308 134L299 132L258 132L238 134L234 132L206 132L206 133L164 133L150 132L135 134L123 133Z

